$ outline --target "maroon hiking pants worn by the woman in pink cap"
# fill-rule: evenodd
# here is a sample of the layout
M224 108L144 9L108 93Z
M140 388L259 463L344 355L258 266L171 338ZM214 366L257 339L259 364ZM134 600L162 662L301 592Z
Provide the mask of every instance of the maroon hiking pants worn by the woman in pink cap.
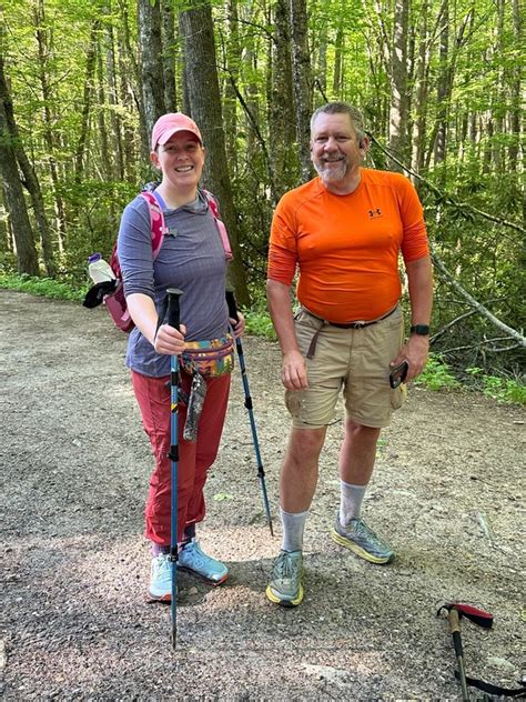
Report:
M171 444L170 378L149 378L132 371L133 390L139 403L155 468L150 478L145 536L160 545L170 545L171 523ZM182 390L190 394L192 378L181 373ZM186 405L179 403L178 435L178 541L184 530L204 519L203 488L206 472L218 455L230 392L230 374L206 379L206 397L199 420L198 440L183 439Z

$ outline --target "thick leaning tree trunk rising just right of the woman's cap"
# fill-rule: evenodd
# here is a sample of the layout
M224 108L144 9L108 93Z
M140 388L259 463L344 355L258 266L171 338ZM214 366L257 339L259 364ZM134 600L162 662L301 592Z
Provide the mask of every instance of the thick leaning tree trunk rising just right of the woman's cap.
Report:
M219 199L229 231L234 260L231 277L237 304L250 305L246 275L241 259L237 214L226 161L221 112L212 9L209 2L189 0L190 9L179 13L180 34L184 42L185 77L192 118L198 122L206 147L204 182Z

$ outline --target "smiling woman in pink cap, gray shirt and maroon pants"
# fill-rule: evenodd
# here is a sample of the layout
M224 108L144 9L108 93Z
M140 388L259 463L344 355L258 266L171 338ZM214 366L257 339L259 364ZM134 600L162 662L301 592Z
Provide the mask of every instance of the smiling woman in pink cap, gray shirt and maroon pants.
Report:
M154 258L149 205L138 195L124 209L118 253L128 309L135 323L127 365L155 458L145 508L145 535L152 551L149 596L166 602L172 584L170 357L180 355L181 398L190 399L192 388L201 399L205 392L201 414L189 419L186 431L188 402L179 403L178 568L219 585L229 571L203 552L195 525L204 519L203 488L223 430L233 341L225 301L227 245L220 235L211 195L198 184L205 158L201 132L185 114L164 114L153 127L151 149L151 161L161 172L153 195L164 215L163 243ZM183 291L180 329L160 319L168 288ZM230 320L235 337L244 329L243 317L239 317ZM210 349L209 362L198 359L198 348Z

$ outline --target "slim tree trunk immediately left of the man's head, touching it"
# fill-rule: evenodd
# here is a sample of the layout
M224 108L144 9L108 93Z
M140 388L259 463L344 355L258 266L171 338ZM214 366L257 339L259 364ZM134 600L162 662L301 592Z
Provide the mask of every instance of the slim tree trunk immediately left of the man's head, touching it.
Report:
M307 42L306 0L290 0L292 37L292 76L296 110L296 138L302 180L312 178L311 112L312 81L311 58Z

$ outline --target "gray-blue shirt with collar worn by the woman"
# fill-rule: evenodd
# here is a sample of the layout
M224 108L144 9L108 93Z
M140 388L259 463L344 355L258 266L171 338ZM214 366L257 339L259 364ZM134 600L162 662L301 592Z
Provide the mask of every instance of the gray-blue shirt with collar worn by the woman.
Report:
M161 313L166 289L179 288L183 291L181 323L186 325L186 340L222 337L229 325L226 261L206 198L199 192L195 202L164 210L164 223L170 231L153 260L145 200L138 195L124 209L118 238L124 294L149 295ZM125 362L143 375L170 373L170 357L155 353L136 327L130 333Z

